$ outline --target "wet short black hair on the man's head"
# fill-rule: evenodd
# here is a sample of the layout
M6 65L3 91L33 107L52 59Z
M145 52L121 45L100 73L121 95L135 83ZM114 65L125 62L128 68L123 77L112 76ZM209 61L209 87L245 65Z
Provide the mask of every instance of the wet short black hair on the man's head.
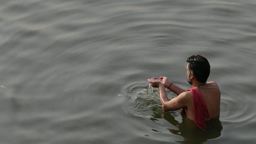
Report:
M200 55L192 55L187 59L188 69L196 76L198 82L206 82L210 75L210 64Z

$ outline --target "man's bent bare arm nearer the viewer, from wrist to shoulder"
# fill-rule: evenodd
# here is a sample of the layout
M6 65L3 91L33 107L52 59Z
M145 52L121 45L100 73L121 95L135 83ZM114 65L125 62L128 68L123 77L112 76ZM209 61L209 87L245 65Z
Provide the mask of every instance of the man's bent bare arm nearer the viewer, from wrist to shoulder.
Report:
M187 106L186 92L182 92L176 98L172 98L171 100L168 100L164 84L159 84L158 88L159 88L160 102L165 112L170 110L179 110Z

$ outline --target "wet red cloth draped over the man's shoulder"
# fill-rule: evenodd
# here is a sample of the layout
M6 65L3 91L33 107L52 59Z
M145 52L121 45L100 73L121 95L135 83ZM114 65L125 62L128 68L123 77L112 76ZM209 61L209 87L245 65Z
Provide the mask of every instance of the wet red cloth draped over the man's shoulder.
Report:
M206 124L204 120L210 118L210 114L208 112L208 108L204 102L201 92L198 87L190 88L186 91L191 91L193 97L194 104L194 122L195 124L202 130L206 129ZM181 109L181 114L185 114L184 108Z

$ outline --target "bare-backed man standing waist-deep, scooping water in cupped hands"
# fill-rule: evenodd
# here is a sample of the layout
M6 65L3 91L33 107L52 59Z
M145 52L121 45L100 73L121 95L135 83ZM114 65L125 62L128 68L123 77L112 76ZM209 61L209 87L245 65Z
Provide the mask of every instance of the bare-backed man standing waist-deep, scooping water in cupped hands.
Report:
M159 88L159 97L164 111L182 109L181 114L205 130L206 120L220 116L220 90L216 82L206 82L210 75L210 64L200 55L192 55L187 59L187 80L193 86L184 90L168 80L166 77L153 77L148 82L154 88ZM165 88L178 96L168 100Z

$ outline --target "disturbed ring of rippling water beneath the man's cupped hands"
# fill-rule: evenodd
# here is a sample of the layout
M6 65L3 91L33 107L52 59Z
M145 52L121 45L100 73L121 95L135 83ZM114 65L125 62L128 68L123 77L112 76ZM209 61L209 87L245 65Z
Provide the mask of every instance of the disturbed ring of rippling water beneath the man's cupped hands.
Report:
M148 85L132 84L126 88L126 96L123 107L126 113L154 121L162 117L158 89L150 90ZM167 91L167 96L170 99L175 97L175 94Z

